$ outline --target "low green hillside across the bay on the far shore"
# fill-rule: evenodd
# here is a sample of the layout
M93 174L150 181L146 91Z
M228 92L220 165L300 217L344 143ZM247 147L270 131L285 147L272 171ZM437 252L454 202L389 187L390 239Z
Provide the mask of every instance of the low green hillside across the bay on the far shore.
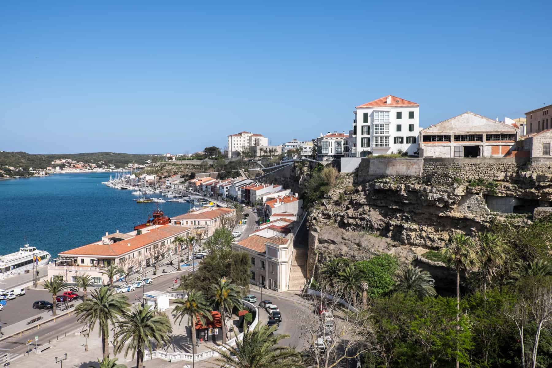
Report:
M116 167L126 166L129 163L145 164L146 160L158 161L160 156L153 154L132 154L116 152L93 153L56 153L56 154L30 154L26 152L0 152L0 167L32 167L45 169L52 166L51 162L60 158L70 158L77 162L114 164Z

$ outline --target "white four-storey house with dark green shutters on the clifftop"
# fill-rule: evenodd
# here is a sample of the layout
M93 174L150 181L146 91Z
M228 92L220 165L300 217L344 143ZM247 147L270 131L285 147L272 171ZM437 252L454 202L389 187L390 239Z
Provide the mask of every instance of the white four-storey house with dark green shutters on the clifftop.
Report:
M354 157L418 151L420 105L394 95L357 106Z

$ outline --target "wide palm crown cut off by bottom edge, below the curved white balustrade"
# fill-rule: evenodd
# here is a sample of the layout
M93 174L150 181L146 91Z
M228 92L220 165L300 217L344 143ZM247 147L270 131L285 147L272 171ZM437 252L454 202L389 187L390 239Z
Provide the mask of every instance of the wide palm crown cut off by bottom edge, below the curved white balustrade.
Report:
M288 334L274 335L276 326L262 324L243 334L243 339L236 339L236 346L225 346L215 350L220 354L215 364L218 367L232 368L302 368L300 354L289 346L278 342L289 338Z

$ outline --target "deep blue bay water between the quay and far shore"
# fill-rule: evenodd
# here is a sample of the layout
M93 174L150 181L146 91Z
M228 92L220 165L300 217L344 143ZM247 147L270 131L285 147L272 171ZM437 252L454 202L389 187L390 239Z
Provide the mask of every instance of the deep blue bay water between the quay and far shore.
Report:
M101 184L110 173L54 174L0 180L0 254L25 244L56 256L98 241L106 231L132 231L147 221L155 203L136 203L132 190ZM155 194L153 196L161 196ZM185 214L188 202L164 202L165 215Z

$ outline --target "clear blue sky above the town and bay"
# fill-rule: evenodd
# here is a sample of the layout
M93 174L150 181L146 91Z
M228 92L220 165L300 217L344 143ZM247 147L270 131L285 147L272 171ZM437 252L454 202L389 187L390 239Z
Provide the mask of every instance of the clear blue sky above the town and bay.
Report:
M310 140L394 94L420 125L552 104L552 2L78 2L0 9L0 150Z

